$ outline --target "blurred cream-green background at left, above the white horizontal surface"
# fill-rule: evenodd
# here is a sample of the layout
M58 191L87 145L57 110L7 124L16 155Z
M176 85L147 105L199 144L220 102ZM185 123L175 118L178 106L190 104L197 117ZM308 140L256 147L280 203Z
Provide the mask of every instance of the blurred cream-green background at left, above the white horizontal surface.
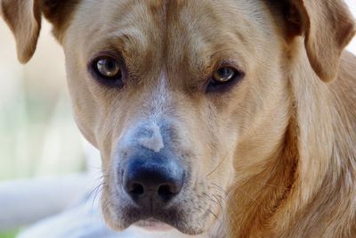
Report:
M83 168L83 139L71 115L64 56L49 24L24 66L2 20L0 36L0 180Z

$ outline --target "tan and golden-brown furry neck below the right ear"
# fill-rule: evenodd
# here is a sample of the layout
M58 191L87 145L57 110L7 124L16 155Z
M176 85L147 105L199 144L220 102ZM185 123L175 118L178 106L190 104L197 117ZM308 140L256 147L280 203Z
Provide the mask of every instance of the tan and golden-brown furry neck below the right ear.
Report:
M287 76L293 98L284 141L263 171L235 185L228 206L229 237L293 237L297 229L320 237L325 230L311 231L318 227L311 220L327 222L328 216L343 217L340 212L345 224L356 225L355 154L342 148L348 138L340 135L352 127L344 126L341 105L330 103L330 87L315 75L306 53L299 53ZM345 183L348 189L341 191ZM349 209L340 208L347 204L342 199L352 203ZM320 211L322 203L329 209Z

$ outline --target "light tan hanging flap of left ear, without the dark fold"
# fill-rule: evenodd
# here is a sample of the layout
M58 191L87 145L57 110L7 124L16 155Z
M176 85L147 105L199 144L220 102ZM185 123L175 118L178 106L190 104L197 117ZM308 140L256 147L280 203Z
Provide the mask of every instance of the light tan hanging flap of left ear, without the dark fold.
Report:
M40 8L37 0L0 0L0 14L12 30L22 63L28 62L36 51L41 29Z

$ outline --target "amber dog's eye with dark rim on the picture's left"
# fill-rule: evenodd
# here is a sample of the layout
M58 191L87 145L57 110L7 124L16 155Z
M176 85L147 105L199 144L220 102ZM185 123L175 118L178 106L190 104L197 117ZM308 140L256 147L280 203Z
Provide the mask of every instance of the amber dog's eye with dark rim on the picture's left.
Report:
M107 86L122 86L122 70L120 63L113 57L101 56L93 60L92 73L102 84Z

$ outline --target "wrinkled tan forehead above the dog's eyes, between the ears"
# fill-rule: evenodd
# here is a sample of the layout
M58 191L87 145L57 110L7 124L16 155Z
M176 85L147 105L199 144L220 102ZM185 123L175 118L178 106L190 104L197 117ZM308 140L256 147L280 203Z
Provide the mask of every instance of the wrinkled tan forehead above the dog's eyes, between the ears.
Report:
M82 1L69 28L69 35L80 37L68 38L70 45L77 45L72 50L80 50L85 58L116 49L129 64L140 64L142 69L144 62L165 62L167 68L190 65L205 70L224 59L241 63L244 54L258 50L261 44L256 39L262 37L257 35L266 32L260 2Z

